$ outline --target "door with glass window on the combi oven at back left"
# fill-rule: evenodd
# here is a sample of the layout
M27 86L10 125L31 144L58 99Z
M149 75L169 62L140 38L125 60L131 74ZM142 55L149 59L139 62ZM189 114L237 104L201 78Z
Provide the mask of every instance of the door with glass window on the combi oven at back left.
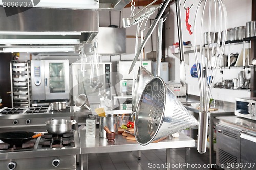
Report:
M45 60L45 96L49 99L69 99L69 61Z

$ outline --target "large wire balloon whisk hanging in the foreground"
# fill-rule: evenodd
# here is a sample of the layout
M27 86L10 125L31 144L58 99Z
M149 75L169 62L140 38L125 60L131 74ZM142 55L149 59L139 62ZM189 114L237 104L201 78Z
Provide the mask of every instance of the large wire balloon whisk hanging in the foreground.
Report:
M227 32L227 12L222 0L201 0L199 2L193 30L200 90L197 150L199 153L205 153L210 93L223 55ZM224 34L223 42L221 42L222 31ZM204 40L207 41L207 45L205 45ZM197 46L199 46L199 53L197 53Z

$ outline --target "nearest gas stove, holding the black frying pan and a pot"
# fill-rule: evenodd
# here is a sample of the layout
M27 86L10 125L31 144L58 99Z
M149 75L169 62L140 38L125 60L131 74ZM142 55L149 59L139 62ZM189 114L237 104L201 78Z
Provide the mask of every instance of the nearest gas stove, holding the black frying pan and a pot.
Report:
M5 146L5 147L4 147ZM80 154L78 131L63 135L45 133L22 147L0 143L0 169L76 169Z

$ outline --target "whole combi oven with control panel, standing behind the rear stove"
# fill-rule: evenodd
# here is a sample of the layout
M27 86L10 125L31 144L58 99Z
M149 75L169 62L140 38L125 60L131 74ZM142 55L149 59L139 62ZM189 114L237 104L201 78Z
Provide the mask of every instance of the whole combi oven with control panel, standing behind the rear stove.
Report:
M32 100L69 99L69 60L31 60Z

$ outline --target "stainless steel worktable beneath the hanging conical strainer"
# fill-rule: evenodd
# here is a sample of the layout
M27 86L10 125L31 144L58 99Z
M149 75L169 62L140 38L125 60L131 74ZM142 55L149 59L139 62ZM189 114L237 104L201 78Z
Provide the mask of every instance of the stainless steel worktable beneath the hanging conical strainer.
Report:
M98 132L98 131L97 131ZM106 138L100 138L97 135L93 137L85 137L85 131L80 130L80 145L81 145L81 169L88 169L88 154L90 153L109 153L123 151L138 151L152 149L166 149L166 162L170 163L171 148L187 148L186 162L190 158L190 147L195 147L195 140L180 133L179 138L165 139L158 143L150 143L142 146L137 141L127 140L126 137L116 135L114 143L108 143ZM98 133L97 133L98 134Z

